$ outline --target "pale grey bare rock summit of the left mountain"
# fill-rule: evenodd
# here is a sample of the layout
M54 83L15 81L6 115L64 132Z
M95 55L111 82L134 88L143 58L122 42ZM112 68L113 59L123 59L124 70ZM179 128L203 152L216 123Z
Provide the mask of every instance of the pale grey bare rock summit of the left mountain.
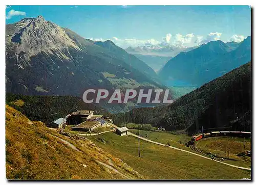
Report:
M39 52L57 54L60 58L72 60L72 56L67 55L63 50L68 51L70 47L82 50L65 33L65 30L55 23L46 21L42 16L25 18L15 23L15 33L10 36L10 44L14 46L15 54L24 54L23 60L27 62L31 56Z

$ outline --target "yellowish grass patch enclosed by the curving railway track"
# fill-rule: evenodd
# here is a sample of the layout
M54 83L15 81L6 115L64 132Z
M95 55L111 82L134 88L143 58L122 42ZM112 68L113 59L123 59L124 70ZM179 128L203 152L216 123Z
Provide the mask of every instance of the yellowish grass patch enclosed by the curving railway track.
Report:
M211 152L218 157L225 158L225 163L251 167L251 157L246 151L251 150L251 140L237 137L212 137L199 140L196 147L207 153Z

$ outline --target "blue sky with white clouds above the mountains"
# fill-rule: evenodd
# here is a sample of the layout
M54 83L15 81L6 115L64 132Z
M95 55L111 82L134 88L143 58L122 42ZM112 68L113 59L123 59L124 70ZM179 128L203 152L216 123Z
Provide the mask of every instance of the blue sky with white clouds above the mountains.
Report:
M6 23L42 15L60 27L118 46L191 47L251 35L249 6L6 6Z

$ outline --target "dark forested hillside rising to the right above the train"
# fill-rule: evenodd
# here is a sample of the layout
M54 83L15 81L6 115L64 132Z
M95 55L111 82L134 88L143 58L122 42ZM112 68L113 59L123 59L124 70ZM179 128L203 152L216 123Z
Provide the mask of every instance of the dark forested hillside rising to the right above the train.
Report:
M128 113L113 114L115 123L152 123L167 130L193 132L212 127L232 126L250 130L251 63L216 78L182 96L168 107L139 108Z

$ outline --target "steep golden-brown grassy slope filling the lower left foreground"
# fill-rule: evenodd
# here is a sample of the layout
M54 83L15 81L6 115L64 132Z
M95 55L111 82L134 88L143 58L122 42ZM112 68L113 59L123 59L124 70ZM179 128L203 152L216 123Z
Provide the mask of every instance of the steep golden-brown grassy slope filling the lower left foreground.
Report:
M114 170L113 170L114 169ZM7 179L141 179L86 138L65 137L6 105Z

